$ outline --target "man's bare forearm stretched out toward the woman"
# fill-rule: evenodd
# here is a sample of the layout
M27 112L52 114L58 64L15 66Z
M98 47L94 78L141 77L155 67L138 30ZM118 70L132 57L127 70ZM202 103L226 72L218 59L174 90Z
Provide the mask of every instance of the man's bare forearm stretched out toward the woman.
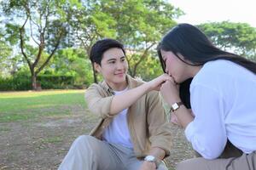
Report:
M130 107L137 99L141 98L143 94L146 94L149 89L149 84L143 83L137 88L132 88L123 94L114 96L110 106L110 115L116 115L120 111Z

